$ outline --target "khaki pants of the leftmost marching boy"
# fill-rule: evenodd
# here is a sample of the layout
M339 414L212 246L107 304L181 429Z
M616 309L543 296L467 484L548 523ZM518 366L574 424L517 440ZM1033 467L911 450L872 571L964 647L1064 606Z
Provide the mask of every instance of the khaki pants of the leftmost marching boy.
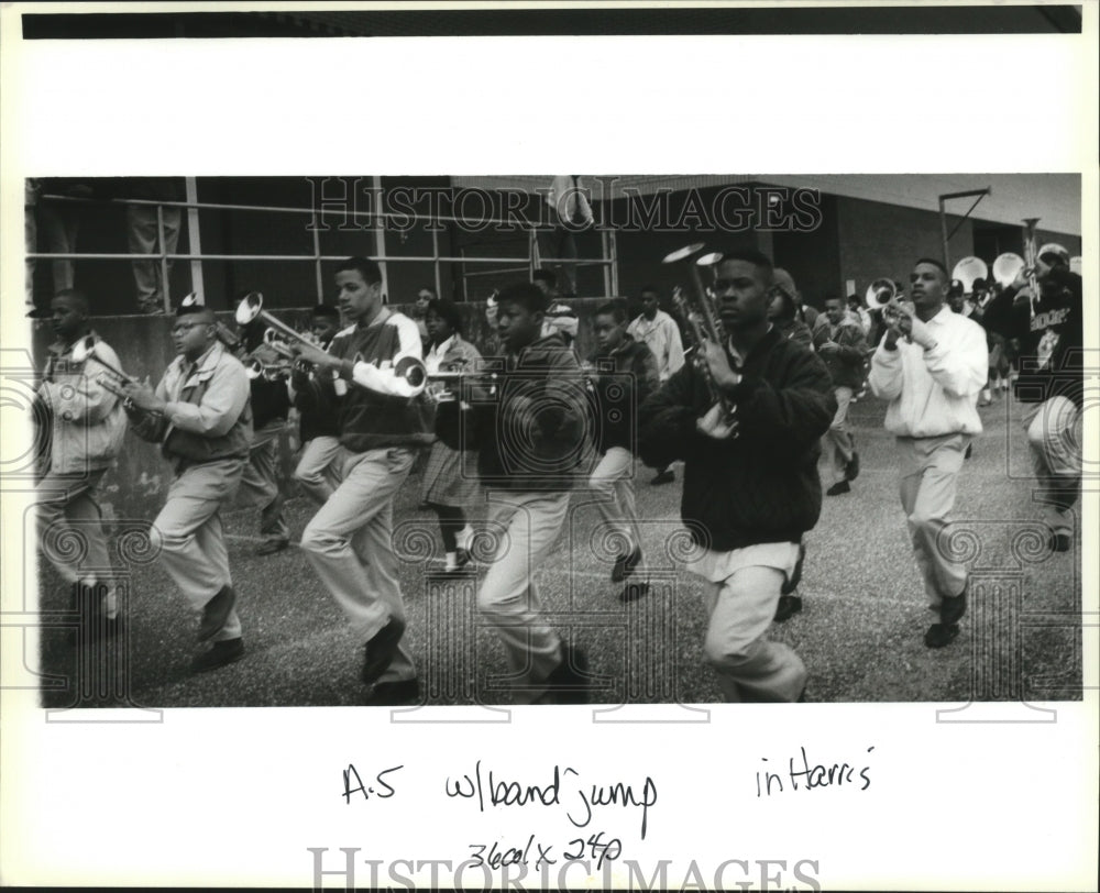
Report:
M107 585L109 617L116 608L114 571L107 550L96 489L103 468L84 476L47 474L36 489L38 542L62 578Z

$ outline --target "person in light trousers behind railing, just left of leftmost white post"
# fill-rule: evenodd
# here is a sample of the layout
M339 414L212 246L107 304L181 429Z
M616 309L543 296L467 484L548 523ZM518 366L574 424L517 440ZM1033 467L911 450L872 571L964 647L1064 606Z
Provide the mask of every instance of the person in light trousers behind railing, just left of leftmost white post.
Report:
M185 191L179 177L128 177L125 198L143 201L183 201ZM183 208L162 206L164 220L164 253L175 254L179 242ZM160 236L155 205L127 206L127 238L131 254L160 254ZM164 295L167 287L162 282L160 261L134 261L134 285L138 289L138 309L142 313L164 312ZM167 262L172 273L172 261Z

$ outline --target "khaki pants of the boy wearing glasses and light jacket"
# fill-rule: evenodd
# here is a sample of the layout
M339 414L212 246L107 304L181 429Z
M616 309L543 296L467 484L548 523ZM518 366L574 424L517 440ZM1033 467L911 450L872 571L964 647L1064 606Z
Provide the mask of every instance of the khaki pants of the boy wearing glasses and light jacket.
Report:
M168 576L197 618L222 587L233 585L221 509L232 505L243 470L241 459L183 466L168 488L168 500L153 521L153 543L160 547ZM240 637L241 619L233 610L213 641Z

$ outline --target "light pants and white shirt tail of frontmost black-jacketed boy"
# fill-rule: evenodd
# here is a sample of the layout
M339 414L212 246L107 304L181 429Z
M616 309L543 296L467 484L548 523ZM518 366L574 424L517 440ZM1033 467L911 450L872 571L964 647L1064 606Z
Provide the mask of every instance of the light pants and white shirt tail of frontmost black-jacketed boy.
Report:
M763 543L707 553L692 567L706 580L703 653L727 702L795 702L805 687L802 660L767 636L798 558L798 543Z

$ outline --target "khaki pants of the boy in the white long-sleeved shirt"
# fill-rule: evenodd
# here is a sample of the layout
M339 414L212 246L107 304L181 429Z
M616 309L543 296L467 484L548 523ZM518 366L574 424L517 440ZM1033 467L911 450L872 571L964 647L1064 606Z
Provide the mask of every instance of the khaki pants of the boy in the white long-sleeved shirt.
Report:
M959 470L971 440L969 434L898 438L901 505L928 606L935 610L943 596L957 596L966 585L966 567L944 554L938 538L955 507Z

